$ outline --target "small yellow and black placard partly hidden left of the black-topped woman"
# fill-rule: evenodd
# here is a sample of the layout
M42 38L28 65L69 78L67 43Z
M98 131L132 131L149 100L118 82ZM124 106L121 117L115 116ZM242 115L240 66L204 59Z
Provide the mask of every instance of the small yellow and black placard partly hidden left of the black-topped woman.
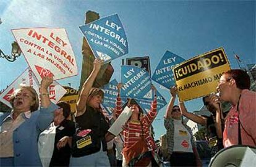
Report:
M77 100L79 98L79 91L69 86L63 86L66 89L66 94L61 98L60 101L67 102L70 105L71 112L75 113Z

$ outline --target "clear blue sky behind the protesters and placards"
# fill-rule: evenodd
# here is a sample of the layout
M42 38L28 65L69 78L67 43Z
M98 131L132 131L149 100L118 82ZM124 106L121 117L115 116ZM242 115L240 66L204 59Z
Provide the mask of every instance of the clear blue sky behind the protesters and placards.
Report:
M60 79L62 85L78 88L82 65L82 33L85 13L92 10L105 17L118 14L126 31L129 53L113 60L114 74L111 78L120 81L120 64L127 57L149 56L151 71L166 50L184 59L224 47L231 68L239 68L235 52L242 65L256 63L255 1L87 1L87 0L6 0L0 1L0 49L11 54L15 40L11 29L16 28L65 28L73 48L79 75ZM6 88L28 67L23 55L15 62L0 58L0 89ZM156 88L170 99L169 91ZM200 110L202 99L185 102L190 112ZM156 139L166 131L163 115L159 111L153 122Z

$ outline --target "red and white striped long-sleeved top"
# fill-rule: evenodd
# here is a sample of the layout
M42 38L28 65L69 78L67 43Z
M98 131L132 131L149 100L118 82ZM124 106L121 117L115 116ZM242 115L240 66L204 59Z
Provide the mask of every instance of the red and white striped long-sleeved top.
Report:
M123 131L124 147L129 148L130 146L135 144L135 142L142 139L142 135L143 135L145 141L147 141L148 150L154 150L156 148L155 141L150 136L150 130L149 130L150 125L153 122L153 120L155 119L156 114L157 114L156 105L157 105L157 101L155 99L155 100L153 100L153 102L151 102L150 111L147 113L147 115L145 115L141 118L141 120L140 120L141 123L139 120L132 120L132 121L127 122L125 129ZM116 115L119 116L121 114L121 112L122 112L121 97L117 96ZM142 131L142 127L143 127L143 131Z

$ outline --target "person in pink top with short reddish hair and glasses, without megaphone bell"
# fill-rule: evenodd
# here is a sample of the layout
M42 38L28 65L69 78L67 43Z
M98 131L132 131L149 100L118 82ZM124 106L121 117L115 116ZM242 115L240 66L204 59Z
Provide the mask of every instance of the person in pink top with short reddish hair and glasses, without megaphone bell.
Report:
M224 147L231 145L256 146L256 92L249 91L250 77L246 71L235 69L223 73L217 86L220 97L211 97L213 104L220 100L232 104L226 116L223 132Z

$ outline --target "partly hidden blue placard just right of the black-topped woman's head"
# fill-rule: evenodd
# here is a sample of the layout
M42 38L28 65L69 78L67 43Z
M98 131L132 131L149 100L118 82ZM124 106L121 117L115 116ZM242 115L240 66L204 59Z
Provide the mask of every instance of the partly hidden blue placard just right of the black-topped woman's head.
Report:
M109 84L105 84L102 89L104 92L104 100L102 105L106 108L109 115L112 113L111 108L116 107L117 84L116 79L114 79ZM124 98L122 98L122 104L124 104Z

